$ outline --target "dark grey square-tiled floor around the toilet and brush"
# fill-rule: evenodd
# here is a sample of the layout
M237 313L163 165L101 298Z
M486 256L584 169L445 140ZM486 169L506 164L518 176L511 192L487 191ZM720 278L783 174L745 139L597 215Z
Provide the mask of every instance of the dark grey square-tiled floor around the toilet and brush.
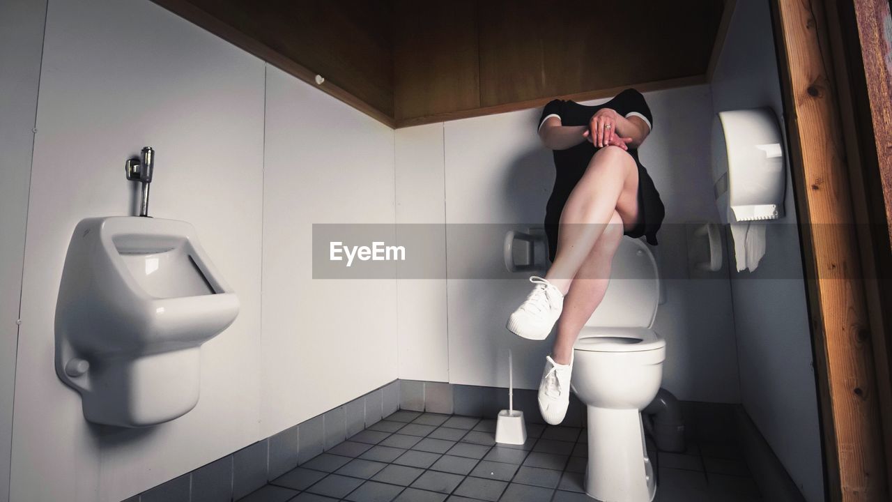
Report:
M527 424L526 444L496 445L495 424L398 411L240 502L589 502L582 489L586 432ZM657 501L761 500L731 442L654 451Z

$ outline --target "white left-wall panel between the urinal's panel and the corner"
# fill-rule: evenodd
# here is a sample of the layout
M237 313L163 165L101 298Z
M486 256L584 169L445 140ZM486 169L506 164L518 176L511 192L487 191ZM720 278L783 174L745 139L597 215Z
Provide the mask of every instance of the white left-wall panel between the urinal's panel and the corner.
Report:
M396 277L313 279L313 223L384 223L393 130L268 67L263 204L263 433L397 378ZM395 269L394 269L395 270Z

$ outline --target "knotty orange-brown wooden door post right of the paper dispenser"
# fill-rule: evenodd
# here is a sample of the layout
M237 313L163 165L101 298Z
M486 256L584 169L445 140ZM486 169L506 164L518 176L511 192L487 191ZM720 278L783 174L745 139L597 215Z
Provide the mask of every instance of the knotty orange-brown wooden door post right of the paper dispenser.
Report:
M886 501L880 403L822 0L772 0L831 500Z

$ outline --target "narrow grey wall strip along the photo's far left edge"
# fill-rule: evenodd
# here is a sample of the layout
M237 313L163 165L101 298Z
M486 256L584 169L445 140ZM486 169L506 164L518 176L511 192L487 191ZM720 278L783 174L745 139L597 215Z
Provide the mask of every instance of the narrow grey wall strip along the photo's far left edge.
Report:
M22 254L46 3L0 2L0 502L9 500Z

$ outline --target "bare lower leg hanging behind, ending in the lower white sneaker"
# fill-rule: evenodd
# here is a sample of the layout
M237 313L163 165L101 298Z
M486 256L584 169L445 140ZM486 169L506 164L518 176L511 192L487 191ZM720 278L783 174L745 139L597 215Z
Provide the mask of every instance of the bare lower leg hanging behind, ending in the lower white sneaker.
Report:
M595 246L582 262L570 291L564 297L564 310L558 318L558 335L555 337L551 358L558 364L570 364L573 346L582 326L601 303L610 281L610 264L623 240L623 219L613 213L607 228L595 241Z

